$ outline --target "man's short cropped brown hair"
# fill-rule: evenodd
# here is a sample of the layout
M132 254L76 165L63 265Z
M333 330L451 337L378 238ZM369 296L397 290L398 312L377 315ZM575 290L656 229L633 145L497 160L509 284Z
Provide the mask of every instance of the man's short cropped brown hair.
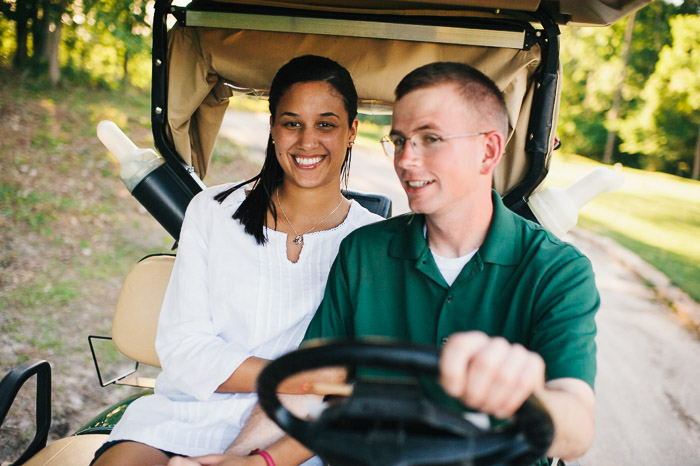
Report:
M408 73L396 86L396 100L409 92L441 84L454 84L467 105L487 116L508 138L508 108L503 93L484 73L464 63L435 62Z

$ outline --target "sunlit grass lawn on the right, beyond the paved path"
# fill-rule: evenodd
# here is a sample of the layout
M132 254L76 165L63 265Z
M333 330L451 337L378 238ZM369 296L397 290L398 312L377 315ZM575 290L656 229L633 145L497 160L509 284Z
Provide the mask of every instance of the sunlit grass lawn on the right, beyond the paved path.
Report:
M557 153L546 185L564 187L598 166ZM700 182L623 168L625 183L583 207L579 225L614 239L700 301Z

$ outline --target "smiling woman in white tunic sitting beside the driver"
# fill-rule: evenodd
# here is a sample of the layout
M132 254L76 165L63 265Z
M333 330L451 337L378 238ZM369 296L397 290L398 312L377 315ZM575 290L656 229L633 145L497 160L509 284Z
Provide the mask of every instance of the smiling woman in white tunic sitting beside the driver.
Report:
M340 191L358 124L348 71L295 58L269 101L260 174L209 188L187 209L158 324L155 394L126 410L95 465L223 452L256 402L259 372L301 342L342 238L380 219Z

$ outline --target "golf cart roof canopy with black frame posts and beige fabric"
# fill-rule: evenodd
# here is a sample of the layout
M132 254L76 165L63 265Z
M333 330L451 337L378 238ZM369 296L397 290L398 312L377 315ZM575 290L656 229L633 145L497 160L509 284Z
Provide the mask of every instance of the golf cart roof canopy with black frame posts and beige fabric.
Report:
M457 61L504 93L510 131L494 187L517 211L547 174L561 83L558 24L608 24L648 2L195 0L178 7L157 0L156 146L182 165L176 170L203 178L229 98L265 98L276 71L296 56L324 55L345 66L360 111L370 114L390 112L408 72ZM168 17L177 24L168 28Z

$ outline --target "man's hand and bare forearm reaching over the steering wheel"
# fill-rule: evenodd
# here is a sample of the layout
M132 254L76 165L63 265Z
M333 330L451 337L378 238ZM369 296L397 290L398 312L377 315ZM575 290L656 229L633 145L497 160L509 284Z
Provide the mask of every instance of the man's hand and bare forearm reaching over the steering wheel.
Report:
M575 460L593 441L593 389L575 378L545 384L544 369L537 353L482 332L452 335L440 357L440 381L445 391L481 412L507 418L530 395L536 395L554 423L547 456Z

